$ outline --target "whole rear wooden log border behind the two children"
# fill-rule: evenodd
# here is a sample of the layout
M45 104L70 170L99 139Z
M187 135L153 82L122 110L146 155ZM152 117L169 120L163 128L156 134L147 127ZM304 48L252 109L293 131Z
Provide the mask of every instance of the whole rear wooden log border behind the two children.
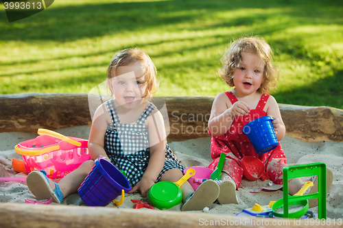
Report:
M207 122L214 97L161 97L165 100L170 134L185 140L209 136ZM300 140L343 141L343 110L279 104L287 135ZM0 95L0 132L36 132L91 126L87 94L24 93Z

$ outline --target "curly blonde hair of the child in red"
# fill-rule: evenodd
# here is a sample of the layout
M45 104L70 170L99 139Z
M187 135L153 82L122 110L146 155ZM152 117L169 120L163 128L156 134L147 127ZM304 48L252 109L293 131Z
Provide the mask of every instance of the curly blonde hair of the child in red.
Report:
M224 66L220 69L219 75L228 84L233 87L233 74L240 67L241 53L256 54L265 62L262 84L257 91L268 93L276 88L276 82L279 79L279 70L272 65L272 49L265 40L257 37L240 38L234 40L222 57Z

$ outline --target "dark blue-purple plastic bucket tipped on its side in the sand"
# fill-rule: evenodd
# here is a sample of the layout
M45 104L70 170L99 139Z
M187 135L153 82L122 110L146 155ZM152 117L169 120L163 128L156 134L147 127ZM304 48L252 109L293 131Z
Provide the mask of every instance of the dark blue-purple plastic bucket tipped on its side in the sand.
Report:
M121 195L121 190L126 193L131 190L128 179L117 167L99 157L78 193L88 206L106 206Z

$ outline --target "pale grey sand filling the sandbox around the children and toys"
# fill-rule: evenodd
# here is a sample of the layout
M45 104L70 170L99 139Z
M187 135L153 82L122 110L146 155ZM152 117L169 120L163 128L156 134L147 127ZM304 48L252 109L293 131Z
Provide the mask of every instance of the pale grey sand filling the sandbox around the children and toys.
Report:
M71 127L60 129L59 133L65 136L77 138L88 138L89 127ZM26 177L27 173L16 173L12 169L12 158L21 160L21 155L14 151L14 146L19 142L29 140L38 136L19 132L0 133L0 177ZM207 166L211 162L210 157L211 138L198 138L185 141L171 141L168 144L176 153L177 157L186 167ZM343 218L343 142L304 142L295 138L285 136L281 145L287 156L288 164L308 164L313 162L324 162L333 172L333 184L327 191L327 217ZM269 188L270 190L262 190ZM270 201L276 201L283 197L281 186L272 185L270 181L261 179L249 181L243 179L237 192L239 204L220 205L213 203L210 207L201 211L208 214L226 214L235 216L242 210L252 207L255 203L268 205ZM273 190L274 189L274 190ZM25 182L0 181L0 202L25 203L25 198L34 199L29 192ZM116 206L110 203L106 207L132 208L134 203L130 199L142 199L140 194L126 194L122 205ZM119 199L117 199L119 200ZM147 201L147 199L143 199ZM71 194L62 201L62 204L86 206L78 194ZM181 205L171 207L172 211L180 211ZM134 209L132 209L134 210ZM150 210L150 209L140 209ZM155 210L158 210L155 208ZM311 208L316 212L317 207ZM198 212L196 212L198 213Z

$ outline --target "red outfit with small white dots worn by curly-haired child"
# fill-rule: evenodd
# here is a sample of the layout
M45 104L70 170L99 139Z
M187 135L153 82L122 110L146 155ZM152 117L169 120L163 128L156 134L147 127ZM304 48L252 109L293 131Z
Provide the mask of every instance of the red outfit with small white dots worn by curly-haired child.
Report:
M225 92L225 94L232 104L238 101L233 92L229 91ZM242 133L244 125L256 118L267 115L263 111L263 108L269 97L269 94L262 94L255 110L250 110L250 113L246 116L237 116L226 134L222 136L212 136L211 158L213 159L213 162L211 162L207 168L215 170L220 158L220 153L225 153L226 160L222 171L233 178L237 188L244 175L243 168L241 167L241 158L244 156L258 157L259 160L265 164L265 172L268 173L270 179L276 184L283 183L282 170L283 166L286 165L287 160L281 144L279 143L279 146L276 147L276 149L268 153L259 154L256 153L254 147L252 147L248 136ZM210 131L209 134L211 135ZM274 160L275 158L278 159ZM274 161L272 162L272 160Z

